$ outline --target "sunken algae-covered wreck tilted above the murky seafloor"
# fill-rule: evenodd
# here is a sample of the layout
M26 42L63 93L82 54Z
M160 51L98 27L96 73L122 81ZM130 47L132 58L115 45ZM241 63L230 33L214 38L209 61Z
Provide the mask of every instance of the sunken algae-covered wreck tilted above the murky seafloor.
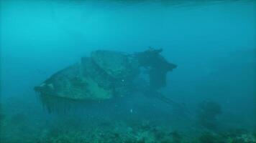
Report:
M148 49L134 54L92 51L90 57L53 74L35 87L51 111L55 102L99 102L141 92L172 103L157 90L166 85L166 74L176 68L160 53Z

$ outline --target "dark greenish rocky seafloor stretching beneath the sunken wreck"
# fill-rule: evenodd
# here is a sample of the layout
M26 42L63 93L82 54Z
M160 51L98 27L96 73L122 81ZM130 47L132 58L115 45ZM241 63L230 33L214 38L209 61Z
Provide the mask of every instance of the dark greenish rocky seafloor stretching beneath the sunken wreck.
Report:
M256 132L239 127L238 122L234 122L236 126L220 122L215 128L208 128L194 119L186 119L185 115L174 112L168 115L168 112L154 111L148 107L143 111L124 112L125 108L114 111L114 108L103 107L103 111L99 109L101 106L94 106L79 112L71 110L66 113L47 114L35 105L21 103L12 100L9 104L1 104L1 143L256 142ZM163 116L160 117L160 114Z

